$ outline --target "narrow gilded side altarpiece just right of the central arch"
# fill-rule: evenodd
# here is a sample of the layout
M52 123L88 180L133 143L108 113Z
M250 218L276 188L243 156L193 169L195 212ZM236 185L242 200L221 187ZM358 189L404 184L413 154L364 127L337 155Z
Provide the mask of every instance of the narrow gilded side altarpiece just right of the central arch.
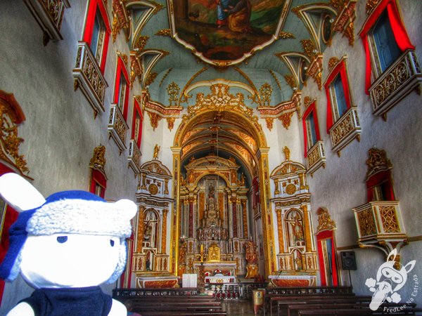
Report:
M277 275L270 275L269 279L278 287L315 285L317 261L305 166L288 159L274 169L270 178L274 181L271 203L279 253Z

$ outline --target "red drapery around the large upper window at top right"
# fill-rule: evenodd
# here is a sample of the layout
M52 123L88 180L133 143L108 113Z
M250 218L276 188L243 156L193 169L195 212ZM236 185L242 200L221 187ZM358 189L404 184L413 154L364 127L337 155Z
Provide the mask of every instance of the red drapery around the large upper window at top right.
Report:
M399 10L395 0L382 0L378 6L373 10L369 18L364 23L360 37L364 44L365 54L366 54L366 72L365 72L365 93L369 94L369 88L371 87L371 55L369 53L369 42L368 42L368 32L375 25L376 21L380 15L384 12L385 8L388 13L388 20L390 20L390 25L392 32L394 34L397 46L399 46L401 51L406 51L407 49L415 49L410 42L409 36L407 35L406 29L404 28L402 19L400 18Z

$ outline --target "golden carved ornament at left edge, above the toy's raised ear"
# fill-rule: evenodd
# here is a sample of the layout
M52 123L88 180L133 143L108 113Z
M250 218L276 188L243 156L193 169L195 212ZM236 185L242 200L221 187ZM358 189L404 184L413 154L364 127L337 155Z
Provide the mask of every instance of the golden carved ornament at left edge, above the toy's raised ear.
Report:
M29 173L23 154L19 154L19 145L23 138L18 137L18 125L25 120L20 105L12 93L0 90L0 159L15 166L20 174Z

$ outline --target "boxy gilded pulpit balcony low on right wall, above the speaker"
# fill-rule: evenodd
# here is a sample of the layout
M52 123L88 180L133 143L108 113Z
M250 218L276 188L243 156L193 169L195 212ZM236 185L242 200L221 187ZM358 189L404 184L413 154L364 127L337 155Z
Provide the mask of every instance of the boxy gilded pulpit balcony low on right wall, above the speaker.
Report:
M369 202L353 212L361 244L399 242L407 238L398 201Z

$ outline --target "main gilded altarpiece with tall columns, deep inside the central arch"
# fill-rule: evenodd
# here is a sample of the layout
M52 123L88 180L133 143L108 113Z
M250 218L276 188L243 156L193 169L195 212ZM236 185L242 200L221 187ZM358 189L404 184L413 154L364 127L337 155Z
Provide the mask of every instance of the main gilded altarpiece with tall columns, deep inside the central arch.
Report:
M245 243L248 242L245 176L234 158L214 154L192 158L181 177L179 256L177 274L195 273L201 251L212 271L236 277L245 275ZM219 260L209 258L217 246ZM227 266L235 268L226 268ZM210 265L211 267L211 265Z

